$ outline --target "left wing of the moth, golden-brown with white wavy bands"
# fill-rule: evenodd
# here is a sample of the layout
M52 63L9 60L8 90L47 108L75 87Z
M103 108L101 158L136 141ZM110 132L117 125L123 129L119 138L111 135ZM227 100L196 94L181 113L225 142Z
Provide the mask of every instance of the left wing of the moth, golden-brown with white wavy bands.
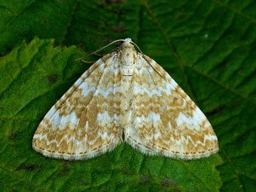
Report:
M92 158L113 150L118 127L118 62L107 54L90 66L50 109L33 138L34 150L53 158Z

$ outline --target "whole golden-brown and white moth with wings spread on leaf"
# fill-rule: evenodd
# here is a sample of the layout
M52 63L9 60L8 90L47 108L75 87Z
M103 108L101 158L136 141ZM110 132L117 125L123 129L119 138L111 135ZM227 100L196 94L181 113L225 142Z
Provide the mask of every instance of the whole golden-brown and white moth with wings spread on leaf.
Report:
M121 142L170 158L216 153L218 138L198 106L130 38L118 41L51 107L33 149L68 160L93 158Z

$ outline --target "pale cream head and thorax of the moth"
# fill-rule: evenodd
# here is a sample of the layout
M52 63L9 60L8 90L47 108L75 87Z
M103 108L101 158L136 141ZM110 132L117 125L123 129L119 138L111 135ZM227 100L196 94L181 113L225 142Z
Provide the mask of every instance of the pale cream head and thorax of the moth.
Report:
M134 49L134 45L130 42L123 42L118 50L118 59L122 75L132 75L134 73L134 65L136 63L138 54Z

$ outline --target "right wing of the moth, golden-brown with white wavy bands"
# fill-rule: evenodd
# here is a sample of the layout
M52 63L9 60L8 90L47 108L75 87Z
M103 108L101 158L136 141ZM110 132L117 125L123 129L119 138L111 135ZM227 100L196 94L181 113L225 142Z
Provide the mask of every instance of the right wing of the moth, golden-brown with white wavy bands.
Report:
M153 59L138 55L134 73L132 126L126 142L146 154L172 158L207 157L218 139L198 106Z

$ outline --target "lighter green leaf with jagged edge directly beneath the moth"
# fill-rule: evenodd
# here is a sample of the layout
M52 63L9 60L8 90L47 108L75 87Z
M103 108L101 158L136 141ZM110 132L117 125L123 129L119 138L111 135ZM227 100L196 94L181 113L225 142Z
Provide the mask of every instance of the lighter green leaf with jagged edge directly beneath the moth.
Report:
M74 46L60 48L51 40L23 42L0 60L0 170L18 190L211 190L220 185L218 155L184 162L148 157L130 146L80 162L45 158L31 149L31 138L46 111L88 66L77 61ZM13 178L13 180L9 180ZM214 180L213 180L214 178ZM14 182L15 181L15 182ZM58 182L52 182L58 181ZM18 184L17 184L18 182ZM6 185L6 184L5 184ZM10 188L9 188L10 187Z

